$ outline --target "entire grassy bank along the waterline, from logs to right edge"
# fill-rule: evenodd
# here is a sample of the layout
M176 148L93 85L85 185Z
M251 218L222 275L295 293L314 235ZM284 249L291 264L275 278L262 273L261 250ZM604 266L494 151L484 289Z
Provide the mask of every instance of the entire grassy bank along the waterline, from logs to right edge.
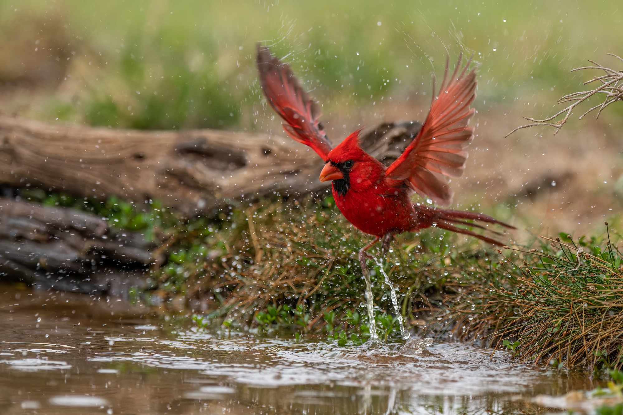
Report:
M265 200L186 219L155 202L136 207L115 198L103 203L39 189L20 193L158 235L169 255L151 270L156 291L133 295L205 302L209 312L194 316L201 327L223 324L338 345L369 339L356 259L368 238L341 217L330 196ZM613 229L603 238L560 234L535 238L538 249L502 252L427 229L398 236L385 270L399 291L407 327L420 335L506 348L519 360L557 368L613 370L623 366L619 239ZM378 265L371 279L379 336L399 341Z

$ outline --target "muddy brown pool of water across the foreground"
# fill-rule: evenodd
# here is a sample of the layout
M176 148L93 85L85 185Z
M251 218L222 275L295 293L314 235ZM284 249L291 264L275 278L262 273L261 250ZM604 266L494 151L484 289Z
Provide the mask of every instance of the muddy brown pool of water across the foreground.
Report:
M398 347L202 331L114 298L0 285L0 413L515 413L596 386L503 351Z

